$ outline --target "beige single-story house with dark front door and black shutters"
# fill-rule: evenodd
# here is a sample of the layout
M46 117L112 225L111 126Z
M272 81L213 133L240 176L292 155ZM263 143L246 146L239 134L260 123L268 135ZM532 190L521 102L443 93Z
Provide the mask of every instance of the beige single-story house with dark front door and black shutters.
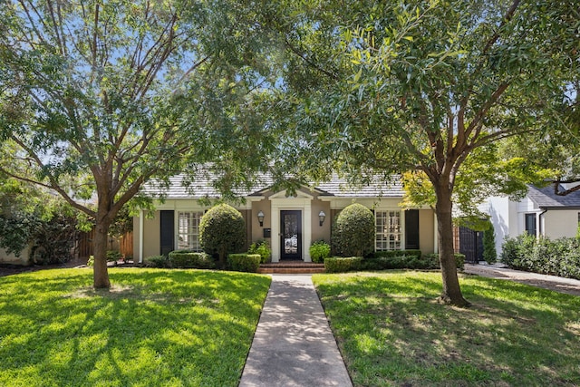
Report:
M209 180L198 179L191 187L183 177L170 179L169 188L150 184L143 191L163 194L156 200L154 218L143 212L133 222L133 255L142 262L145 256L167 254L176 249L200 250L199 220L209 208L201 198L218 198ZM247 246L267 240L272 261L281 259L310 262L309 247L316 240L330 242L334 218L353 202L371 208L376 222L376 250L419 248L423 253L437 251L434 212L431 208L402 209L400 184L386 186L380 181L353 189L344 179L333 179L316 187L304 186L295 195L275 191L267 179L262 187L240 194L245 203L234 205L247 225Z

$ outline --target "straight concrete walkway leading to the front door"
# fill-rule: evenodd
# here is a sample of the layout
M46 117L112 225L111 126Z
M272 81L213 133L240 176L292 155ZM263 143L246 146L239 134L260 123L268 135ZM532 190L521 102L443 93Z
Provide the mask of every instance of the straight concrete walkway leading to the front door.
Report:
M309 275L273 275L240 387L352 386Z

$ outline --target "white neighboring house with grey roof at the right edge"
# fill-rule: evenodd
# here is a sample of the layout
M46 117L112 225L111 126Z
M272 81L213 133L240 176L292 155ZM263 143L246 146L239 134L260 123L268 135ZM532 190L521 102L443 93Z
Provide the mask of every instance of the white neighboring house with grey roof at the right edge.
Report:
M580 191L559 196L553 186L529 186L527 196L519 201L493 197L481 209L488 213L494 226L499 255L505 237L524 233L536 237L575 237L580 223Z

